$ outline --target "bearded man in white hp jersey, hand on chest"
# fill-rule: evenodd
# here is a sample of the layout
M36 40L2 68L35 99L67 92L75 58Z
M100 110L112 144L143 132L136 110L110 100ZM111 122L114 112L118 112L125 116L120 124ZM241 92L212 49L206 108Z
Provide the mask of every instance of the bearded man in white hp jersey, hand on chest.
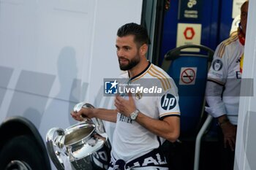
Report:
M148 42L143 26L127 23L118 29L116 53L120 69L125 71L121 77L129 80L128 84L144 79L147 84L158 82L162 93L117 95L116 109L71 112L75 120L98 117L116 123L109 169L168 169L159 147L165 139L175 142L179 136L178 90L166 72L147 61Z

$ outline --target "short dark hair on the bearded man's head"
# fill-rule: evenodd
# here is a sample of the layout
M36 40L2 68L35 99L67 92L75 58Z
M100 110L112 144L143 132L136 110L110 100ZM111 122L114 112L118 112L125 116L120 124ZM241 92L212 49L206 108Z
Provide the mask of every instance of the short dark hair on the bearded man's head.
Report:
M138 25L137 23L127 23L124 26L118 28L117 36L128 36L134 35L135 36L135 43L139 46L149 43L148 38L148 31L143 26Z

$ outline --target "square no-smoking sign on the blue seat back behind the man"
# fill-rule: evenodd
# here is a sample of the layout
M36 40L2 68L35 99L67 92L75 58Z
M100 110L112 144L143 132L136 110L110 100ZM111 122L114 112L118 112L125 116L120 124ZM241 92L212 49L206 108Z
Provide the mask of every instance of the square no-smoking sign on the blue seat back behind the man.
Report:
M195 85L197 67L181 67L179 85Z

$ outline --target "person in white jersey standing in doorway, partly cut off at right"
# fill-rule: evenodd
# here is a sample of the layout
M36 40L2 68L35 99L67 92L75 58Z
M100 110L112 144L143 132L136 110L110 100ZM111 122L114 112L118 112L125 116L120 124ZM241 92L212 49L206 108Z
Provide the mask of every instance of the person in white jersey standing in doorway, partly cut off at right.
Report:
M216 117L219 123L223 148L219 166L225 170L233 169L234 164L248 4L249 1L245 1L241 6L237 34L218 45L206 85L206 101L209 106L206 112Z

